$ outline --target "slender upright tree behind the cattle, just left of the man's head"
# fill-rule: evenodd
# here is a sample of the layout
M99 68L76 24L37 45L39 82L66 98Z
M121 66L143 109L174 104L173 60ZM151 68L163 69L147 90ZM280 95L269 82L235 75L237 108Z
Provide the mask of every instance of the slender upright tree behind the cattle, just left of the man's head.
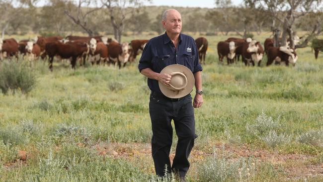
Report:
M126 18L135 15L135 9L139 8L143 1L145 0L101 0L110 16L114 38L119 42L121 42L122 32L126 25Z

